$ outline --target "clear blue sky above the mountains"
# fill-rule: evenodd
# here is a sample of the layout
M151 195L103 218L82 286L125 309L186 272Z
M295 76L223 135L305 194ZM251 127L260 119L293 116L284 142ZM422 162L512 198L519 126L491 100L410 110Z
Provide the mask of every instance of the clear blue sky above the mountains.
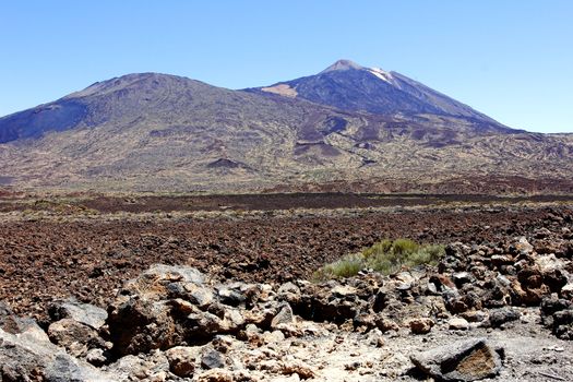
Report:
M127 73L242 88L339 58L513 128L573 132L571 0L5 0L0 116Z

